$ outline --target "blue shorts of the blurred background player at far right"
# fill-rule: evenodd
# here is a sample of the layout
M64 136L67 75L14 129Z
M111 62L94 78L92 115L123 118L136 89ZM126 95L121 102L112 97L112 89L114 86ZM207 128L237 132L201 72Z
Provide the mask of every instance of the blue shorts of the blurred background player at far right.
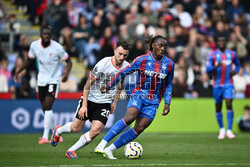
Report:
M213 88L213 97L215 103L222 103L223 99L233 99L234 87L233 85L218 86Z

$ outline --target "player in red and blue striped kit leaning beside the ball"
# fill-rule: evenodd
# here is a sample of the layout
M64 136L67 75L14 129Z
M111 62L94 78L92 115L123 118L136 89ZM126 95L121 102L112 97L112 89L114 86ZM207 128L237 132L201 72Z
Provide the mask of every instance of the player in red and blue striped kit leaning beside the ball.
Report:
M135 59L130 67L119 72L101 88L101 92L106 93L126 75L134 71L139 73L139 82L132 92L125 117L113 125L94 150L96 153L103 153L109 159L116 159L113 151L133 141L152 123L162 94L165 99L162 115L165 116L170 111L174 62L165 55L167 39L160 35L155 36L149 39L149 48L151 52ZM132 129L124 132L114 143L105 148L109 141L134 120L136 123Z

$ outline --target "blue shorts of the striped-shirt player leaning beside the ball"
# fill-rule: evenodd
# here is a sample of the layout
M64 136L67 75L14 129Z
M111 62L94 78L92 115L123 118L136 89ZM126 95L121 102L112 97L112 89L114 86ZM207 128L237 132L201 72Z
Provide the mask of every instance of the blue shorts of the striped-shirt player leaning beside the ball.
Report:
M159 104L151 104L148 100L143 98L131 98L127 108L129 107L134 107L139 110L138 117L146 117L152 122L155 118Z

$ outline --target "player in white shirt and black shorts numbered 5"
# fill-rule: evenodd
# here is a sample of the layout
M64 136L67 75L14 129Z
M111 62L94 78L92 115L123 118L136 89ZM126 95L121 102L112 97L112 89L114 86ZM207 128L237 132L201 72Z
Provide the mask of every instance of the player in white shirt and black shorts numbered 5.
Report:
M69 55L65 52L62 45L51 39L52 31L48 26L42 27L41 39L31 43L29 58L25 60L21 67L15 71L14 80L17 80L18 74L24 70L30 63L31 59L37 58L38 61L38 93L39 100L44 112L44 131L43 136L39 139L39 144L49 143L49 131L55 130L52 106L57 97L59 84L67 81L72 62ZM67 63L66 72L62 76L60 64ZM62 139L60 139L62 141Z

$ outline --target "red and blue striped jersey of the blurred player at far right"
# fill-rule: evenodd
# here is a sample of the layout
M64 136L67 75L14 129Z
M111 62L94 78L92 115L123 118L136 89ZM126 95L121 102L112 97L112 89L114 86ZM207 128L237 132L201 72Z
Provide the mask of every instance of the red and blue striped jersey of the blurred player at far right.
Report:
M222 65L216 68L219 62ZM240 67L239 59L234 51L225 50L225 52L221 52L217 49L208 57L207 73L213 72L214 86L233 85L231 72L238 73Z

